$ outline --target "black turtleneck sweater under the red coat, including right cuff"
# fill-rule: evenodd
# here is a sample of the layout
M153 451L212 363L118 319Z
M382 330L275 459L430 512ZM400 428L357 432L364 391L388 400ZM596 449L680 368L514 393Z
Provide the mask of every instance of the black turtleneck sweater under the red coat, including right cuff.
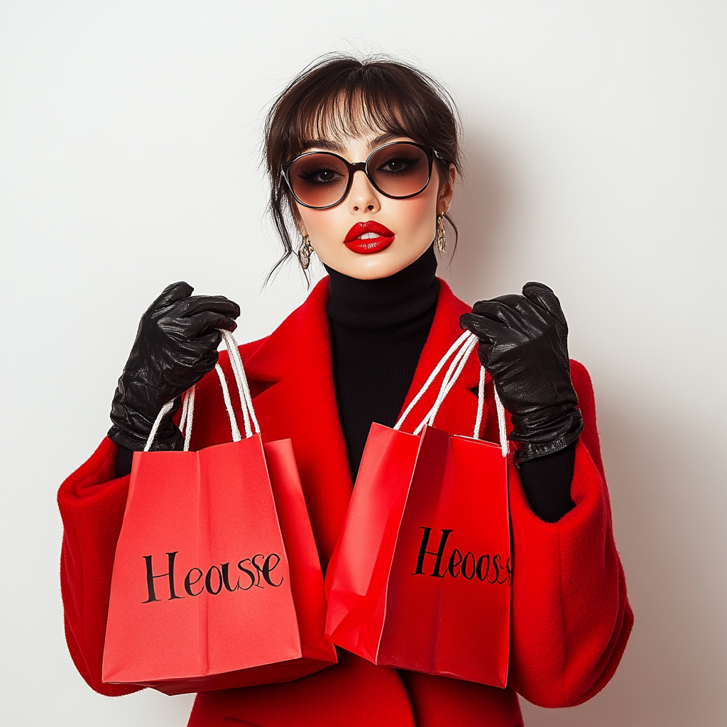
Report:
M371 422L393 427L429 335L439 293L433 246L389 278L358 280L326 265L333 379L338 414L356 480ZM533 512L547 522L574 507L575 446L523 462Z

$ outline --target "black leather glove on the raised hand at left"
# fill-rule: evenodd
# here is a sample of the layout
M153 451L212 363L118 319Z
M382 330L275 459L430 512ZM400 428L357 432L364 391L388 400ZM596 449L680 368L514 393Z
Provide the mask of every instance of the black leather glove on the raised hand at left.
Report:
M237 303L221 295L192 296L193 290L187 283L167 286L141 318L111 404L108 436L126 449L144 449L161 407L214 369L222 339L216 329L237 327ZM151 449L182 449L172 422L180 402L162 420Z

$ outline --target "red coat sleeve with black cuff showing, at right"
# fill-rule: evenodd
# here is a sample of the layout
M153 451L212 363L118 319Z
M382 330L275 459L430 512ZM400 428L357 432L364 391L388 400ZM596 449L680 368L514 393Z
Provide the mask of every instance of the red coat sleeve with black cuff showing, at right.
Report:
M532 513L517 470L510 470L513 603L510 685L541 707L587 701L614 675L633 624L611 525L595 423L593 387L571 361L584 430L571 496L557 523Z

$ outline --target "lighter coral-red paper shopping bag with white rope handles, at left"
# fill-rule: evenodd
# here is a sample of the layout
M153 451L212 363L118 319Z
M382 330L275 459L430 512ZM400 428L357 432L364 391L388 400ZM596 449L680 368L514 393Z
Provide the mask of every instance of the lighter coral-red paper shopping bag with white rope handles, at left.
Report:
M217 366L234 441L186 451L191 389L185 451L134 454L105 682L182 694L288 681L337 661L324 638L323 576L292 442L262 443L237 347L229 334L225 342L246 437Z

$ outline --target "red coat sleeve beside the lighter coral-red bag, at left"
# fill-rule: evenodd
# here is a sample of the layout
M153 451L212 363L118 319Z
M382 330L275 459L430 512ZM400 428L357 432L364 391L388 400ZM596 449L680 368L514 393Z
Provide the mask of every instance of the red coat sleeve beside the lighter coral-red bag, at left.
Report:
M107 696L140 687L101 679L106 616L116 542L124 518L129 475L114 479L118 448L108 437L58 491L63 518L60 587L65 638L73 663L88 685Z

